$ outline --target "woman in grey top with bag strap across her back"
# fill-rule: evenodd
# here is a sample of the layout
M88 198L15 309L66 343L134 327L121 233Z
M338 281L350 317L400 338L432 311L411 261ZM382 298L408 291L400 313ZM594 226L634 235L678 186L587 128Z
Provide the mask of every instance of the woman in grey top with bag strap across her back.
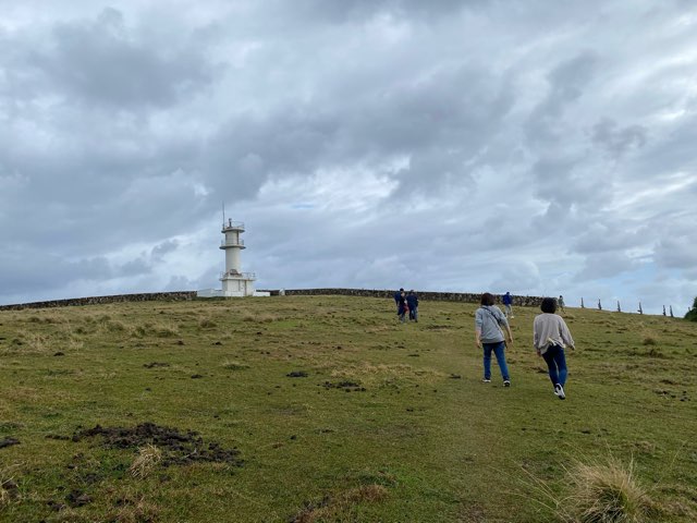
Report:
M511 387L511 375L505 364L505 342L502 329L505 329L509 344L513 344L513 335L508 319L499 307L493 304L493 294L485 292L481 295L481 306L475 313L475 343L484 352L485 384L491 382L491 353L497 357L499 370L503 378L503 386Z

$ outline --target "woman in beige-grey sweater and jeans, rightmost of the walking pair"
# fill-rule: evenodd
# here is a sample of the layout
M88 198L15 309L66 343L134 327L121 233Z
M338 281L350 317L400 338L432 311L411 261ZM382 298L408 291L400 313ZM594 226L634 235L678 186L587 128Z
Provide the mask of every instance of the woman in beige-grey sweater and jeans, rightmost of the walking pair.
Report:
M540 305L542 314L533 321L533 342L538 356L542 356L549 369L549 379L554 386L554 394L560 400L566 399L564 386L566 385L566 356L564 348L575 349L574 339L564 318L557 313L557 300L542 299Z

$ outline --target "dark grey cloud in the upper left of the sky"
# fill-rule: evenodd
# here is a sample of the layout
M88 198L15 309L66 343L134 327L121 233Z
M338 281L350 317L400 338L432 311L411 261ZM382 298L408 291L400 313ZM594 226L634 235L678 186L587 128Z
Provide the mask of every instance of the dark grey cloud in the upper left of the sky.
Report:
M27 51L25 60L44 90L62 94L68 104L168 107L212 80L200 49L187 44L158 49L138 41L123 14L108 8L96 21L57 24L49 41Z

